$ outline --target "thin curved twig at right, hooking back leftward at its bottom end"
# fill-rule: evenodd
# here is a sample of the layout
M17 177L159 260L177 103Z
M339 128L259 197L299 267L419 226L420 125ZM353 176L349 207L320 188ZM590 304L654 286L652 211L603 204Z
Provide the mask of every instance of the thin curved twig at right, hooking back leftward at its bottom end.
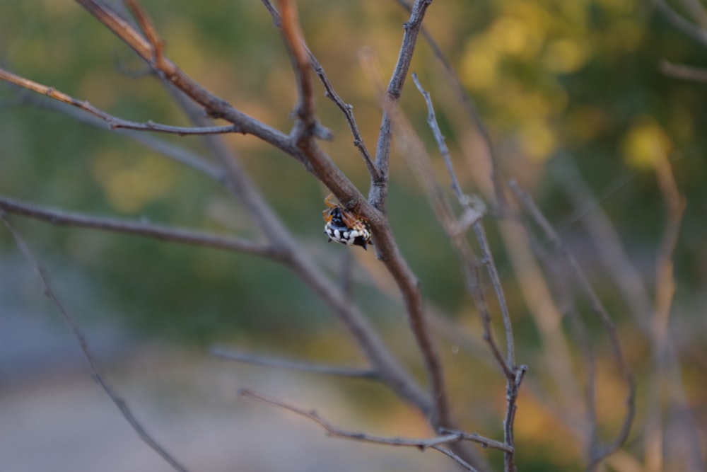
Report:
M540 209L537 205L535 205L530 195L520 190L518 184L515 183L515 180L510 182L510 189L513 190L516 197L518 197L518 200L520 200L522 205L532 217L533 221L535 221L540 229L542 229L547 239L555 246L556 251L559 251L559 253L561 253L568 261L575 278L580 284L580 288L584 292L585 297L587 297L590 301L592 311L600 319L602 326L604 327L604 331L606 331L607 336L609 337L609 342L611 343L612 350L614 351L614 359L616 359L621 375L624 377L624 381L626 381L626 387L628 390L628 393L626 393L626 414L624 415L624 420L621 423L621 428L612 442L605 444L604 447L600 447L597 444L595 449L590 451L589 468L593 468L596 464L602 461L602 459L609 454L612 454L614 451L619 449L624 442L626 442L626 438L629 436L629 432L631 431L633 418L636 415L636 384L633 381L633 374L631 374L631 369L629 368L629 364L626 361L626 357L624 357L623 350L621 349L621 343L619 342L619 335L617 334L616 326L614 326L614 322L609 316L609 313L606 309L604 309L602 302L587 280L586 275L581 270L577 260L575 260L572 253L568 250L568 248L566 248L559 234L557 234L550 222L547 221Z

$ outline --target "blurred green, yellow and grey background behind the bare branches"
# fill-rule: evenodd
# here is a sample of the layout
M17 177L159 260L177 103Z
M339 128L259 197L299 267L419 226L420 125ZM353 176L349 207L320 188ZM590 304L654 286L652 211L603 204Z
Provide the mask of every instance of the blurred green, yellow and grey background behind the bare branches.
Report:
M688 3L677 2L676 8L684 13L681 7ZM288 131L296 103L290 60L259 1L143 4L168 57L181 69L236 108ZM310 49L339 95L354 105L368 149L375 149L380 105L359 57L372 54L390 76L407 12L394 0L301 0L298 6ZM707 434L707 85L665 74L661 64L707 67L704 47L670 25L650 2L637 0L436 1L424 24L474 99L506 178L532 193L617 324L636 376L638 415L628 444L607 467L648 471L658 470L651 464L663 464L663 470L699 470L691 467L704 464ZM72 2L2 2L0 64L126 120L189 124L158 81L141 74L144 64L132 51ZM422 39L411 71L431 93L463 190L491 202L488 149ZM258 238L239 203L209 178L105 126L86 125L42 104L31 93L0 84L1 195ZM411 81L401 106L446 186L445 168L425 123L425 103ZM344 117L321 87L317 107L320 121L336 134L322 147L366 194L366 168ZM159 139L206 156L198 137ZM356 301L397 355L421 372L397 294L373 251L325 244L325 188L296 161L253 137L225 139L303 251L332 277L353 260ZM667 205L655 171L663 160L670 163L686 209L672 258L674 357L658 372L655 340L604 255L607 247L621 248L650 308L660 293L657 267L665 267L659 255ZM390 221L436 313L455 416L469 430L500 438L503 378L481 343L478 313L457 256L407 161L394 153L391 166ZM210 346L222 345L363 364L325 304L286 268L249 255L18 217L13 221L86 330L107 378L143 414L148 430L194 470L454 470L451 461L431 452L327 439L307 420L235 397L237 388L262 388L317 408L347 429L430 434L418 413L380 386L228 364L209 355ZM583 388L587 367L583 338L564 316L568 305L556 288L564 272L553 272L554 263L539 272L547 277L561 316L559 333L552 334L542 328L529 301L532 289L523 277L532 272L518 265L520 243L509 247L513 238L493 218L486 221L513 317L518 362L530 366L516 422L519 470L581 470L586 438L575 434L566 412L582 412L581 394L574 395ZM602 222L610 231L597 236L592 230ZM619 246L602 239L609 236ZM542 236L534 243L549 251ZM588 312L586 301L579 306ZM643 315L650 319L653 313ZM610 438L624 414L625 386L600 323L586 313L585 320L596 347L600 430ZM553 336L564 340L566 351L551 350ZM551 361L565 353L566 373L575 377L567 383L558 381L561 367L556 370ZM667 384L672 393L664 398L660 392ZM663 398L658 401L660 427L651 426L655 395ZM659 448L664 457L655 459L648 447L650 431L691 432L691 439L664 442ZM273 455L274 444L288 449ZM501 467L501 454L486 456ZM69 330L3 229L0 470L49 468L168 470L91 383Z

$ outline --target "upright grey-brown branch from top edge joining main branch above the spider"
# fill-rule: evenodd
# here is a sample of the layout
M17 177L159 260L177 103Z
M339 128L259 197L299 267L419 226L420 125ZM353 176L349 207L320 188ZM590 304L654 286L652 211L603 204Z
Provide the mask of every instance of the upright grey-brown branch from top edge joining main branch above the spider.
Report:
M385 209L385 200L388 192L388 167L390 166L390 146L392 143L391 112L397 108L397 103L400 100L402 86L405 83L412 54L415 50L417 35L425 18L427 8L431 3L432 0L415 0L410 18L403 25L405 33L402 39L402 46L400 47L397 63L390 77L383 102L383 117L380 123L378 144L375 149L375 167L378 168L381 179L378 182L372 181L368 192L368 201L380 211Z

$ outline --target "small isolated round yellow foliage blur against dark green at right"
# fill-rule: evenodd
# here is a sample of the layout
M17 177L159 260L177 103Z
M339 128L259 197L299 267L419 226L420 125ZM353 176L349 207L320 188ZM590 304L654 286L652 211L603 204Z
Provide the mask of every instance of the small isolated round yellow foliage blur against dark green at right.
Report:
M665 130L653 117L636 117L624 135L621 151L629 165L653 168L655 162L670 153L672 143Z

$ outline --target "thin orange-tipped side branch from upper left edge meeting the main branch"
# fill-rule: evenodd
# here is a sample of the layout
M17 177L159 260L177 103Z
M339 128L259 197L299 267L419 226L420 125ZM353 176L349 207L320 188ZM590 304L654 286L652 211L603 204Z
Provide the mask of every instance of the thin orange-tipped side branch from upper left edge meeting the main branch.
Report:
M81 108L91 115L99 117L101 120L105 121L110 129L125 128L125 129L135 129L138 131L152 131L160 133L171 133L179 134L180 136L185 136L187 134L221 134L221 133L232 133L238 131L234 125L227 126L209 126L209 127L182 127L182 126L171 126L162 125L160 123L155 123L148 121L145 123L138 123L133 121L122 120L121 118L105 113L105 111L95 108L93 105L88 103L88 101L81 101L72 96L66 95L66 93L57 91L54 87L48 87L39 84L30 79L25 79L24 77L12 74L5 69L0 68L0 80L4 80L11 84L16 84L28 90L40 93L49 98L54 98L54 100L59 100L63 103L68 103L76 108Z

